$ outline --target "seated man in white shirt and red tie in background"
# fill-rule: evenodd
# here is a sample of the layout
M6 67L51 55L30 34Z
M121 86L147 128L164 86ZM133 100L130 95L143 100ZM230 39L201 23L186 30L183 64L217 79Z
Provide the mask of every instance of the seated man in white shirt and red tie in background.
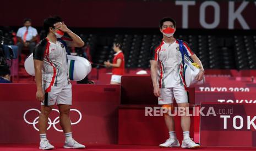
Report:
M17 32L18 38L18 55L20 56L21 50L23 47L28 47L30 53L33 53L33 50L36 46L36 28L31 27L31 19L24 19L24 26L20 27Z

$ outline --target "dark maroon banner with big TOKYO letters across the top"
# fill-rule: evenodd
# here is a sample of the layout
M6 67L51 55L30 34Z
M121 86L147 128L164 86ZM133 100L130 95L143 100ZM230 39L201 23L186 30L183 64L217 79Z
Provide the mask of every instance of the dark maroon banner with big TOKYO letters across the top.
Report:
M161 18L171 16L178 28L256 29L256 3L249 1L46 0L35 7L26 0L1 5L0 26L21 26L29 17L33 26L41 27L43 19L59 15L72 27L157 28Z

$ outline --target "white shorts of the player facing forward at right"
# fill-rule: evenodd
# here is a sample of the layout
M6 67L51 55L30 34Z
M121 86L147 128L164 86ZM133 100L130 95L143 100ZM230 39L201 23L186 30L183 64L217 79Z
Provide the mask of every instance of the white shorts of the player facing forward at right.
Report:
M160 89L160 96L158 98L158 104L171 104L173 98L176 103L189 103L188 91L185 90L184 85L174 88L162 88Z

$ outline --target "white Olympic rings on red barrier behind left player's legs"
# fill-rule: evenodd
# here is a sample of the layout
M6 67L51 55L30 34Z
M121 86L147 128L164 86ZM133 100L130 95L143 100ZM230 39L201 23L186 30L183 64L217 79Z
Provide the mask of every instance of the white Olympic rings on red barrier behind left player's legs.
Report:
M30 111L36 111L36 112L38 112L39 114L40 114L41 112L39 111L39 109L31 108L31 109L28 109L28 110L24 113L24 115L23 115L23 118L24 118L25 122L28 123L28 124L30 124L30 125L33 125L34 129L37 130L37 131L39 131L39 129L37 129L37 127L36 127L36 124L39 123L39 120L38 120L39 117L36 117L36 118L34 119L34 121L32 121L32 122L29 122L29 121L26 119L26 114L27 114L28 112L30 112ZM53 108L52 111L56 111L56 112L59 113L59 111L58 111L57 109L55 109L55 108ZM77 112L77 113L79 114L79 119L78 119L78 121L76 121L76 122L74 122L74 123L72 123L72 121L71 121L71 125L78 124L78 123L81 121L81 119L82 119L82 114L81 114L81 112L78 111L77 109L74 109L74 108L70 109L70 111L75 111L75 112ZM47 127L47 130L49 130L49 129L51 128L51 126L53 126L53 128L54 128L56 131L63 132L63 130L59 130L59 129L56 127L56 124L58 124L58 123L59 123L59 117L55 118L53 121L52 121L50 118L48 118L48 124L49 124L49 126Z

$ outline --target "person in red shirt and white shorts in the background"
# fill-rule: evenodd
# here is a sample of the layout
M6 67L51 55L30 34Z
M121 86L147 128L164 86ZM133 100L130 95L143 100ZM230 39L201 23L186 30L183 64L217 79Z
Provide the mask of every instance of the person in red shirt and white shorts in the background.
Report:
M113 50L116 53L113 59L113 63L105 61L104 65L106 67L112 67L112 77L110 84L120 84L121 77L124 74L124 55L122 52L121 43L114 43Z

